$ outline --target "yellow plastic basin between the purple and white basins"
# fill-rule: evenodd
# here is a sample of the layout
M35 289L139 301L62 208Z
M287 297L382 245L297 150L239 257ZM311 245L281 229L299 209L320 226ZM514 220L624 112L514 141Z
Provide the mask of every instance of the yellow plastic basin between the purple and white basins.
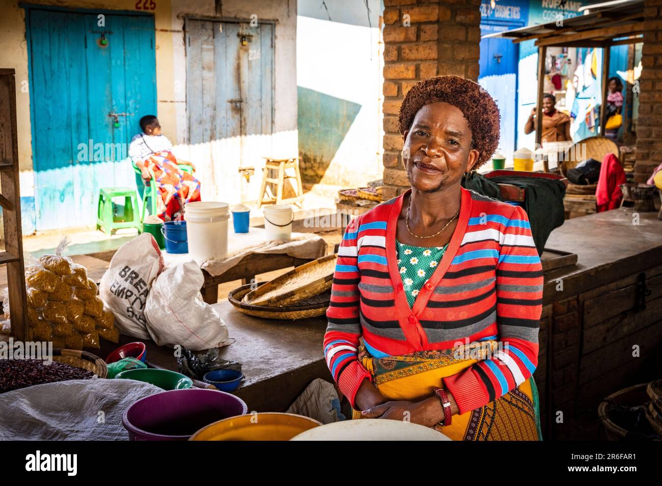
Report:
M293 413L254 413L214 422L195 432L189 440L290 440L320 425L316 420Z

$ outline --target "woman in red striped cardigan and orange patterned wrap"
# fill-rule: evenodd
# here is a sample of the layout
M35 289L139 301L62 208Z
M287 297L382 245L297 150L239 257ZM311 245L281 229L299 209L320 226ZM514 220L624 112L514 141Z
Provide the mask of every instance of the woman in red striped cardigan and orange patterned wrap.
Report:
M440 76L399 114L411 184L347 227L326 313L326 362L355 418L454 440L538 440L542 266L526 213L465 190L495 151L495 101Z

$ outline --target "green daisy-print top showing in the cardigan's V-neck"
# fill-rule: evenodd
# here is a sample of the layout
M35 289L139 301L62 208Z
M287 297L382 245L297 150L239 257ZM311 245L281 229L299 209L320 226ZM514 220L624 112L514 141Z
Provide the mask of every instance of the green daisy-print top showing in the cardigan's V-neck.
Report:
M395 240L398 268L409 307L414 306L418 292L442 261L448 243L443 247L414 247Z

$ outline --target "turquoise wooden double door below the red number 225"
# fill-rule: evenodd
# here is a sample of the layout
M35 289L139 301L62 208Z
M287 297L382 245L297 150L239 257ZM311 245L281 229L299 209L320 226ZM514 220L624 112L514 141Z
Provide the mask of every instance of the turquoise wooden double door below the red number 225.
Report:
M99 188L134 184L128 142L140 117L156 114L154 17L98 22L97 13L28 10L38 231L95 225Z

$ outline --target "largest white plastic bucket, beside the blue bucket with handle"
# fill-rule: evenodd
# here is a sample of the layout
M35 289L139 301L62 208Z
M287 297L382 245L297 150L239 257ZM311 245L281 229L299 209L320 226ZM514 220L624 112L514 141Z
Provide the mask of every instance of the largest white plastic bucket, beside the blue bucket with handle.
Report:
M228 256L228 204L189 202L184 208L189 255L197 263L222 260Z

